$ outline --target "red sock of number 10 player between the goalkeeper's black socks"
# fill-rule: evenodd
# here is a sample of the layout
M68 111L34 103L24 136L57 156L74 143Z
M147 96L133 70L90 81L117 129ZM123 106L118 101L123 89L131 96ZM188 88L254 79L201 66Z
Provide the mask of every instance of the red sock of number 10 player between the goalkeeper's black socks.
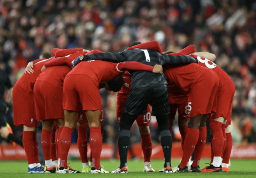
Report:
M150 162L152 154L152 138L149 134L141 136L141 147L144 155L144 162Z

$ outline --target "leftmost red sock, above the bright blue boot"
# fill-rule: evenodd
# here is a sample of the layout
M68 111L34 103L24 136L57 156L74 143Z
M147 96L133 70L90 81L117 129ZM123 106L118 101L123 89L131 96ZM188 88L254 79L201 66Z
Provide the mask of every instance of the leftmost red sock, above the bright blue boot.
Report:
M23 131L22 143L27 156L28 164L36 163L34 160L34 132Z

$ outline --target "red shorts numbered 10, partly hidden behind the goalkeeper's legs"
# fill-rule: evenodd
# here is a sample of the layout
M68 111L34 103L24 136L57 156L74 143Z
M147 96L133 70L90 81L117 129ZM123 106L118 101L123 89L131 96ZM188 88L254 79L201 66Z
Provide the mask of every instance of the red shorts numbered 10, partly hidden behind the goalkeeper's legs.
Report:
M116 97L116 119L119 122L122 119L122 112L124 109L124 103L127 97ZM138 115L136 121L138 126L149 126L151 120L151 108L148 105L145 115Z

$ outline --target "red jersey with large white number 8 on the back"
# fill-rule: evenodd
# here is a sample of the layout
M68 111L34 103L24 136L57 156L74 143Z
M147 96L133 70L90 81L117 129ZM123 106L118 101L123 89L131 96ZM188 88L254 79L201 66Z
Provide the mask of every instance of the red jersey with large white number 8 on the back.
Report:
M198 59L199 64L203 67L207 67L209 69L212 69L219 77L220 84L226 83L226 81L230 80L230 76L224 72L218 65L216 65L214 62L210 61L209 59L206 59L204 57L199 57L196 55L191 55L192 57L195 57Z

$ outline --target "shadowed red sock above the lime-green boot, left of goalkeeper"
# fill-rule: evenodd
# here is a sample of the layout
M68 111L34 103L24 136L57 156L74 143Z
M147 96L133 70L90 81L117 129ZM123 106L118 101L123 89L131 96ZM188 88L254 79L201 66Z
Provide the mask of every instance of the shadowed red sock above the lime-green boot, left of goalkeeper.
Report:
M79 150L82 162L88 162L88 159L87 159L87 140L86 140L87 130L88 130L88 125L78 126L77 145L78 145L78 150Z

